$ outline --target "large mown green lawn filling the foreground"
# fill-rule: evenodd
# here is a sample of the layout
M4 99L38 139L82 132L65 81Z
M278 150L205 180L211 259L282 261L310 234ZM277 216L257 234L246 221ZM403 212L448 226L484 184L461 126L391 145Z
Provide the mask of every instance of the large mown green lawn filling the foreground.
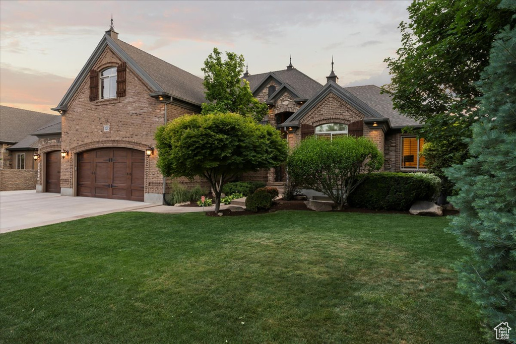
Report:
M481 342L446 224L129 212L3 234L0 342Z

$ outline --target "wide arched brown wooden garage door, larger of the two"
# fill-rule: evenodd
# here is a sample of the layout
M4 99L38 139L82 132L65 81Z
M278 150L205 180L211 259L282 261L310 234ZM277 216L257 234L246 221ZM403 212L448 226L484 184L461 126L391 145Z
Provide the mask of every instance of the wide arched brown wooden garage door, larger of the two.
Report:
M77 196L143 202L145 156L128 148L77 155Z

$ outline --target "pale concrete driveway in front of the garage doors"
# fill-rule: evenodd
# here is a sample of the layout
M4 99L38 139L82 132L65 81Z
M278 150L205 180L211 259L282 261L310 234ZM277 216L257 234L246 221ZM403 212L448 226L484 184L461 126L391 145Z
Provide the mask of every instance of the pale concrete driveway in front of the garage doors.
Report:
M36 193L35 190L2 191L0 233L154 206L156 205L134 201Z

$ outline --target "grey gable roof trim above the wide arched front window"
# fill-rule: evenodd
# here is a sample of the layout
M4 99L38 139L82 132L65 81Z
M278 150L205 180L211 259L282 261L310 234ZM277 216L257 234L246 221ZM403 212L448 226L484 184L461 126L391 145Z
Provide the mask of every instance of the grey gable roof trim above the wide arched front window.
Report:
M364 120L367 119L385 119L378 111L362 102L356 96L342 87L335 84L333 81L328 81L319 92L317 92L311 99L303 104L289 119L287 119L282 126L297 126L299 121L307 114L314 106L322 101L328 94L333 93L340 97L343 101L356 108L364 114Z

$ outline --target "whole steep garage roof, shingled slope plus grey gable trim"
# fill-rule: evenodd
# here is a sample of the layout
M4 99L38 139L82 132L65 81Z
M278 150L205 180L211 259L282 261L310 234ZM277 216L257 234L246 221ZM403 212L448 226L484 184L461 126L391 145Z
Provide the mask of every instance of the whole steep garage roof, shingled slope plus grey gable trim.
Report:
M65 96L63 96L62 100L53 110L68 110L68 103L85 78L89 76L90 70L106 47L114 51L115 54L125 61L127 65L149 85L152 90L152 95L169 94L172 96L172 100L180 100L195 106L200 106L205 102L204 87L202 85L203 79L143 52L117 38L111 38L111 36L106 33L88 61L86 61L83 69L80 70Z

